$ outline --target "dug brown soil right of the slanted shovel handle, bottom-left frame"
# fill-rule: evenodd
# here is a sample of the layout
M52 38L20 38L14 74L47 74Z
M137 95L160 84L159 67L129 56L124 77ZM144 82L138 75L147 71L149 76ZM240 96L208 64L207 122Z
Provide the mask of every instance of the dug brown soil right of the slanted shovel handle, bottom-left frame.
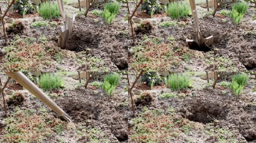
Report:
M74 123L102 130L113 143L127 142L128 119L125 112L128 108L121 104L126 99L121 95L108 97L102 89L98 89L97 93L94 91L73 90L56 102L71 116Z

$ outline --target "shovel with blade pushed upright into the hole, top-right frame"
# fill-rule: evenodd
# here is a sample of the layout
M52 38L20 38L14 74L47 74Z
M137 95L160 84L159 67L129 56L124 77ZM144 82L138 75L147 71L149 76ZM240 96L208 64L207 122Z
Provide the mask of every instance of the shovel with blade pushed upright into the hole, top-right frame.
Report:
M210 45L213 44L213 35L204 38L200 32L199 23L198 23L198 17L196 13L196 5L195 0L189 0L192 16L195 22L195 28L196 28L196 37L195 40L186 39L186 42L189 45L189 48L192 50L198 50L198 51L209 51Z

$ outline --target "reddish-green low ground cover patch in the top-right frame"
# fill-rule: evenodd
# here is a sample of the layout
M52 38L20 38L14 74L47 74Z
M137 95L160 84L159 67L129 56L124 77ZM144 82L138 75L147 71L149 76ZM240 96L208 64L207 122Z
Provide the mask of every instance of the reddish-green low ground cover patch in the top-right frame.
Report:
M200 57L196 51L178 48L174 38L170 36L167 38L169 38L168 44L162 38L149 38L138 46L132 47L133 57L129 68L152 71L168 70L179 66L183 60L189 61L191 57ZM169 60L170 58L172 60Z

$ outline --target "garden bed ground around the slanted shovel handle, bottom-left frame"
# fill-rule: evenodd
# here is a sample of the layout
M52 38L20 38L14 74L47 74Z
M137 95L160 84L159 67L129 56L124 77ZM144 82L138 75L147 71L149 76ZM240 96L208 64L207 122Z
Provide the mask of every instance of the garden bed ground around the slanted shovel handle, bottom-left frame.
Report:
M26 73L30 79L40 78L45 72ZM86 143L128 143L127 80L120 78L109 82L116 87L112 96L106 95L95 83L100 83L108 74L99 72L89 82L88 88L79 86L78 72L56 72L65 82L63 88L43 90L61 109L72 118L68 123L48 108L36 96L11 79L5 88L9 116L4 114L0 100L0 142L86 142ZM112 73L115 77L116 73ZM81 71L81 78L84 72ZM1 82L6 74L0 73ZM115 78L118 79L118 78ZM33 80L36 86L41 87ZM8 92L7 92L8 91ZM13 92L13 93L10 93ZM22 97L23 100L19 100ZM111 105L110 105L111 103ZM3 114L2 114L3 113ZM113 121L110 125L109 121ZM103 127L104 126L104 127Z

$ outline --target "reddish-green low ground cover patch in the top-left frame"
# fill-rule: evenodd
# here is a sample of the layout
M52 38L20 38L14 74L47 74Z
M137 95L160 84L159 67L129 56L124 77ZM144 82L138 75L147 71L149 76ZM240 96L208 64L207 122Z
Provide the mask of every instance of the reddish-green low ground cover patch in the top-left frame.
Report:
M34 43L33 38L18 39L12 45L4 48L3 69L9 71L36 71L43 67L50 66L51 57L61 60L64 57L74 57L70 51L61 50L59 47L46 47L45 37L40 38L41 44ZM32 50L33 49L33 50ZM17 52L17 51L18 52Z

